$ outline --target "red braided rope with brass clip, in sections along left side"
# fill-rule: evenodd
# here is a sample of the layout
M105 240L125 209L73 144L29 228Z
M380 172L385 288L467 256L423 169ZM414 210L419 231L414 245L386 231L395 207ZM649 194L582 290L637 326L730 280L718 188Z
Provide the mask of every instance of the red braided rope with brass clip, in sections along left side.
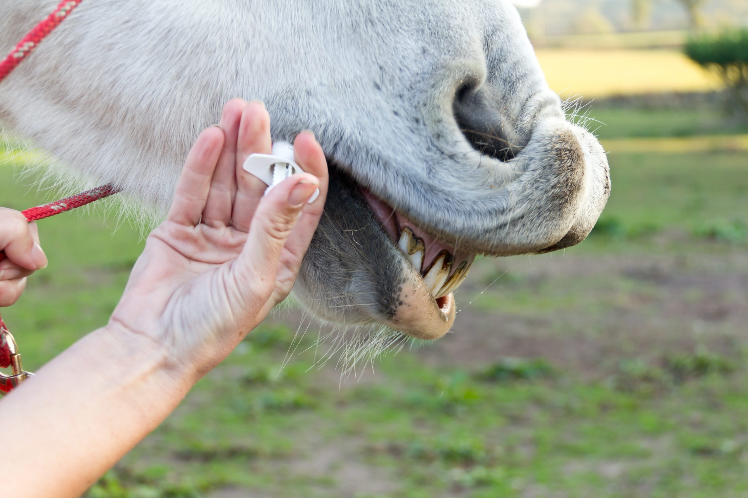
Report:
M34 29L28 32L25 37L15 46L10 54L0 63L0 81L3 81L16 66L25 60L34 49L44 40L44 38L52 33L52 31L60 25L67 16L70 15L73 10L81 4L83 0L63 0L57 8L47 16L42 22L37 24ZM29 222L34 220L43 220L55 216L55 214L64 213L71 209L79 208L83 205L87 205L93 201L103 199L104 197L111 196L113 193L117 193L117 187L111 184L103 185L102 187L96 187L91 190L76 194L75 196L67 197L56 202L50 202L37 208L27 209L23 211L23 215L28 219ZM0 261L4 260L5 256L0 251ZM13 375L6 376L0 373L0 393L7 393L16 387L24 379L31 376L31 373L25 372L21 366L21 355L19 355L18 348L16 347L16 340L8 332L5 323L0 317L0 368L10 367L13 370Z

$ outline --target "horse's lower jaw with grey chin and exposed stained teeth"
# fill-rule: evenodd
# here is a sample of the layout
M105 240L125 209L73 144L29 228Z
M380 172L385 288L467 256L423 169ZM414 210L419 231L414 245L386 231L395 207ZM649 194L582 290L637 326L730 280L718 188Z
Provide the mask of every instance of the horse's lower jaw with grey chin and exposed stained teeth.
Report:
M329 322L437 339L454 324L453 291L474 255L429 237L383 204L331 163L325 212L295 299Z

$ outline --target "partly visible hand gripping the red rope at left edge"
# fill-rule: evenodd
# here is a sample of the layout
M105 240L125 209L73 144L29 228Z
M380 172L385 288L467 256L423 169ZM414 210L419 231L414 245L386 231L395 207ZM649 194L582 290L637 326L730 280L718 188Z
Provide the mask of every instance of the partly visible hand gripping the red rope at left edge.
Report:
M0 307L10 306L26 288L26 277L46 268L36 223L19 211L0 208Z

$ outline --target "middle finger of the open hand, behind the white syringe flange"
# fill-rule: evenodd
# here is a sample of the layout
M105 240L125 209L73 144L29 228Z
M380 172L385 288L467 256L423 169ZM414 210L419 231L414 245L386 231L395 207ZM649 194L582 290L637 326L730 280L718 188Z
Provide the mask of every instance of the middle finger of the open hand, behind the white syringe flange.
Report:
M236 199L231 225L237 230L249 231L254 211L267 188L264 181L244 170L244 162L251 154L271 152L270 115L262 102L249 102L242 113L236 142Z

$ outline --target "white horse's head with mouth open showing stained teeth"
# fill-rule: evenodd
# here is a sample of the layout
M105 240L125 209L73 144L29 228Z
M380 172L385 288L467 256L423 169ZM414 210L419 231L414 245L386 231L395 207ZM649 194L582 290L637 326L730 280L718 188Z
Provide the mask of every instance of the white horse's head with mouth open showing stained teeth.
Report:
M2 46L53 3L2 2ZM295 287L323 320L440 337L476 254L579 243L610 192L508 0L88 0L0 85L0 119L165 208L233 97L266 103L274 140L310 128L328 156Z

